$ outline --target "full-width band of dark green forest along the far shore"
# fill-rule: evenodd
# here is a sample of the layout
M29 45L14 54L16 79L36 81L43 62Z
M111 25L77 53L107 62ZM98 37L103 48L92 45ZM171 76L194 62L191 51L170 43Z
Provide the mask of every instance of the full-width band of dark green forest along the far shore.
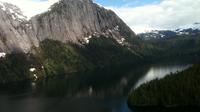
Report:
M193 57L200 56L200 38L197 35L142 41L133 37L127 38L125 44L120 45L113 38L101 36L91 38L86 45L44 40L40 43L40 48L36 49L37 53L34 56L12 54L0 59L0 82L33 78L33 74L30 75L28 72L29 67L36 67L37 76L43 77L122 66L130 67L133 64L155 62L159 59L171 60L172 57L194 59ZM18 61L13 61L14 57Z

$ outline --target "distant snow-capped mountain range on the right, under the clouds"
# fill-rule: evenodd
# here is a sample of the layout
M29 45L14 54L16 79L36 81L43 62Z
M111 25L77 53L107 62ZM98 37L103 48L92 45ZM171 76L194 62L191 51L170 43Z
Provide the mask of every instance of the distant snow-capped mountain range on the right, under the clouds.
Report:
M146 33L140 33L138 36L144 40L169 39L176 36L196 36L200 33L200 24L194 23L176 30L153 30Z

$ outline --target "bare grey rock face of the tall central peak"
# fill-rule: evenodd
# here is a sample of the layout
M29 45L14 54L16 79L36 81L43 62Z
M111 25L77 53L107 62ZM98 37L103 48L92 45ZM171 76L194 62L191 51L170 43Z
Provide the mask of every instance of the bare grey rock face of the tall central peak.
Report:
M122 38L126 36L124 30L134 35L113 11L94 4L92 0L61 0L48 12L33 17L31 22L40 41L49 38L79 43L95 33Z

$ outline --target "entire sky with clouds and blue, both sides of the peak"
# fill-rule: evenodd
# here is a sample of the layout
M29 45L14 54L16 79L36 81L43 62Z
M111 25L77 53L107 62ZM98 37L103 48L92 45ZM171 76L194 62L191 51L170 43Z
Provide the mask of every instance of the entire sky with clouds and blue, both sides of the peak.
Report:
M19 6L29 18L58 0L0 0ZM113 10L136 33L200 23L200 0L93 0Z

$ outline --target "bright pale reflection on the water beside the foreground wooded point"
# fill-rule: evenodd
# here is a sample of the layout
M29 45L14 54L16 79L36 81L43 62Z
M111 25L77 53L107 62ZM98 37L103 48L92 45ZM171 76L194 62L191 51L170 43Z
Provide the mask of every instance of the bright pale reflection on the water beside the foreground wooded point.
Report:
M171 73L176 73L182 70L187 69L191 65L167 65L167 66L153 66L150 67L148 72L141 79L138 80L134 88L139 87L140 85L147 83L153 79L161 79L166 75L170 75Z

